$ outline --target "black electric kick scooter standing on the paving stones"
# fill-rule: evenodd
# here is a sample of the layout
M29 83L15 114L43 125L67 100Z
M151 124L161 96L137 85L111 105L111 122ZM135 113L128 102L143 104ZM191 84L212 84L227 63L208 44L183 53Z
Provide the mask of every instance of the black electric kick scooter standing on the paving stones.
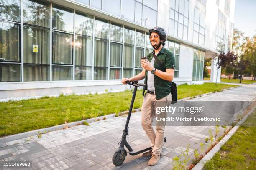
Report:
M126 82L129 85L133 85L134 86L134 90L133 90L133 97L131 100L131 105L130 105L130 109L128 112L128 116L126 119L126 124L125 124L125 128L123 130L123 135L120 141L120 145L118 146L117 150L115 151L113 158L112 158L112 162L115 166L119 166L123 163L123 161L125 160L125 157L127 156L127 153L129 153L130 155L138 155L140 153L146 152L148 150L151 150L151 146L148 148L144 148L142 150L133 150L131 148L131 146L129 145L129 143L126 140L126 136L128 135L128 125L129 125L129 121L130 121L130 117L131 117L131 112L133 110L133 103L135 100L135 96L136 96L136 92L137 92L137 88L139 86L144 87L145 84L143 83L138 83L138 81L133 81L133 82ZM166 142L166 137L164 138L164 143ZM128 151L125 150L124 146L128 149Z

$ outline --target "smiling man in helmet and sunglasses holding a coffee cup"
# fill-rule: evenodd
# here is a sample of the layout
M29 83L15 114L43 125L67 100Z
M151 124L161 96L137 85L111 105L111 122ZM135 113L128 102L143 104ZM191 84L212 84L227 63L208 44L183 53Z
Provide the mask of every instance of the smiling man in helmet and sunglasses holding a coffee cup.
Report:
M151 141L152 149L143 156L151 157L148 165L154 166L160 159L162 145L164 143L165 126L156 126L156 132L152 126L154 111L158 101L165 101L169 104L172 101L171 82L174 78L175 60L172 52L164 48L167 38L166 31L161 27L154 27L149 30L149 40L153 46L153 52L148 54L148 61L141 60L143 71L132 78L123 78L122 83L126 81L142 80L145 78L146 86L143 89L143 104L141 107L141 125ZM158 58L161 65L156 62ZM145 90L147 93L144 95ZM154 111L151 113L151 101L155 102Z

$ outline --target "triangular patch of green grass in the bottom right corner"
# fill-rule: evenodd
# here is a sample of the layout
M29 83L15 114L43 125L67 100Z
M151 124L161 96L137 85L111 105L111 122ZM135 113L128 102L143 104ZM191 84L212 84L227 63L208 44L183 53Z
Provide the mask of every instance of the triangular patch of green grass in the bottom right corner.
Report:
M256 109L204 170L256 170Z

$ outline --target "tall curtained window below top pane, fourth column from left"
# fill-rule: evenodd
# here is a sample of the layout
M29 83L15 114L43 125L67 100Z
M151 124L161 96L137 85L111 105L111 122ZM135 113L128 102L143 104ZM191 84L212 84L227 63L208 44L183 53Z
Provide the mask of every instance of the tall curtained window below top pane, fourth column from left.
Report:
M76 35L75 80L92 80L92 37Z

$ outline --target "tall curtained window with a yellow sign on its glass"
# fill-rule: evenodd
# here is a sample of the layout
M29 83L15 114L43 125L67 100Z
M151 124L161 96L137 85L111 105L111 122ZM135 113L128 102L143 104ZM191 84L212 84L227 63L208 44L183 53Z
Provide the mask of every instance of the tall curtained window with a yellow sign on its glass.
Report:
M50 80L49 37L49 29L23 25L24 81Z

